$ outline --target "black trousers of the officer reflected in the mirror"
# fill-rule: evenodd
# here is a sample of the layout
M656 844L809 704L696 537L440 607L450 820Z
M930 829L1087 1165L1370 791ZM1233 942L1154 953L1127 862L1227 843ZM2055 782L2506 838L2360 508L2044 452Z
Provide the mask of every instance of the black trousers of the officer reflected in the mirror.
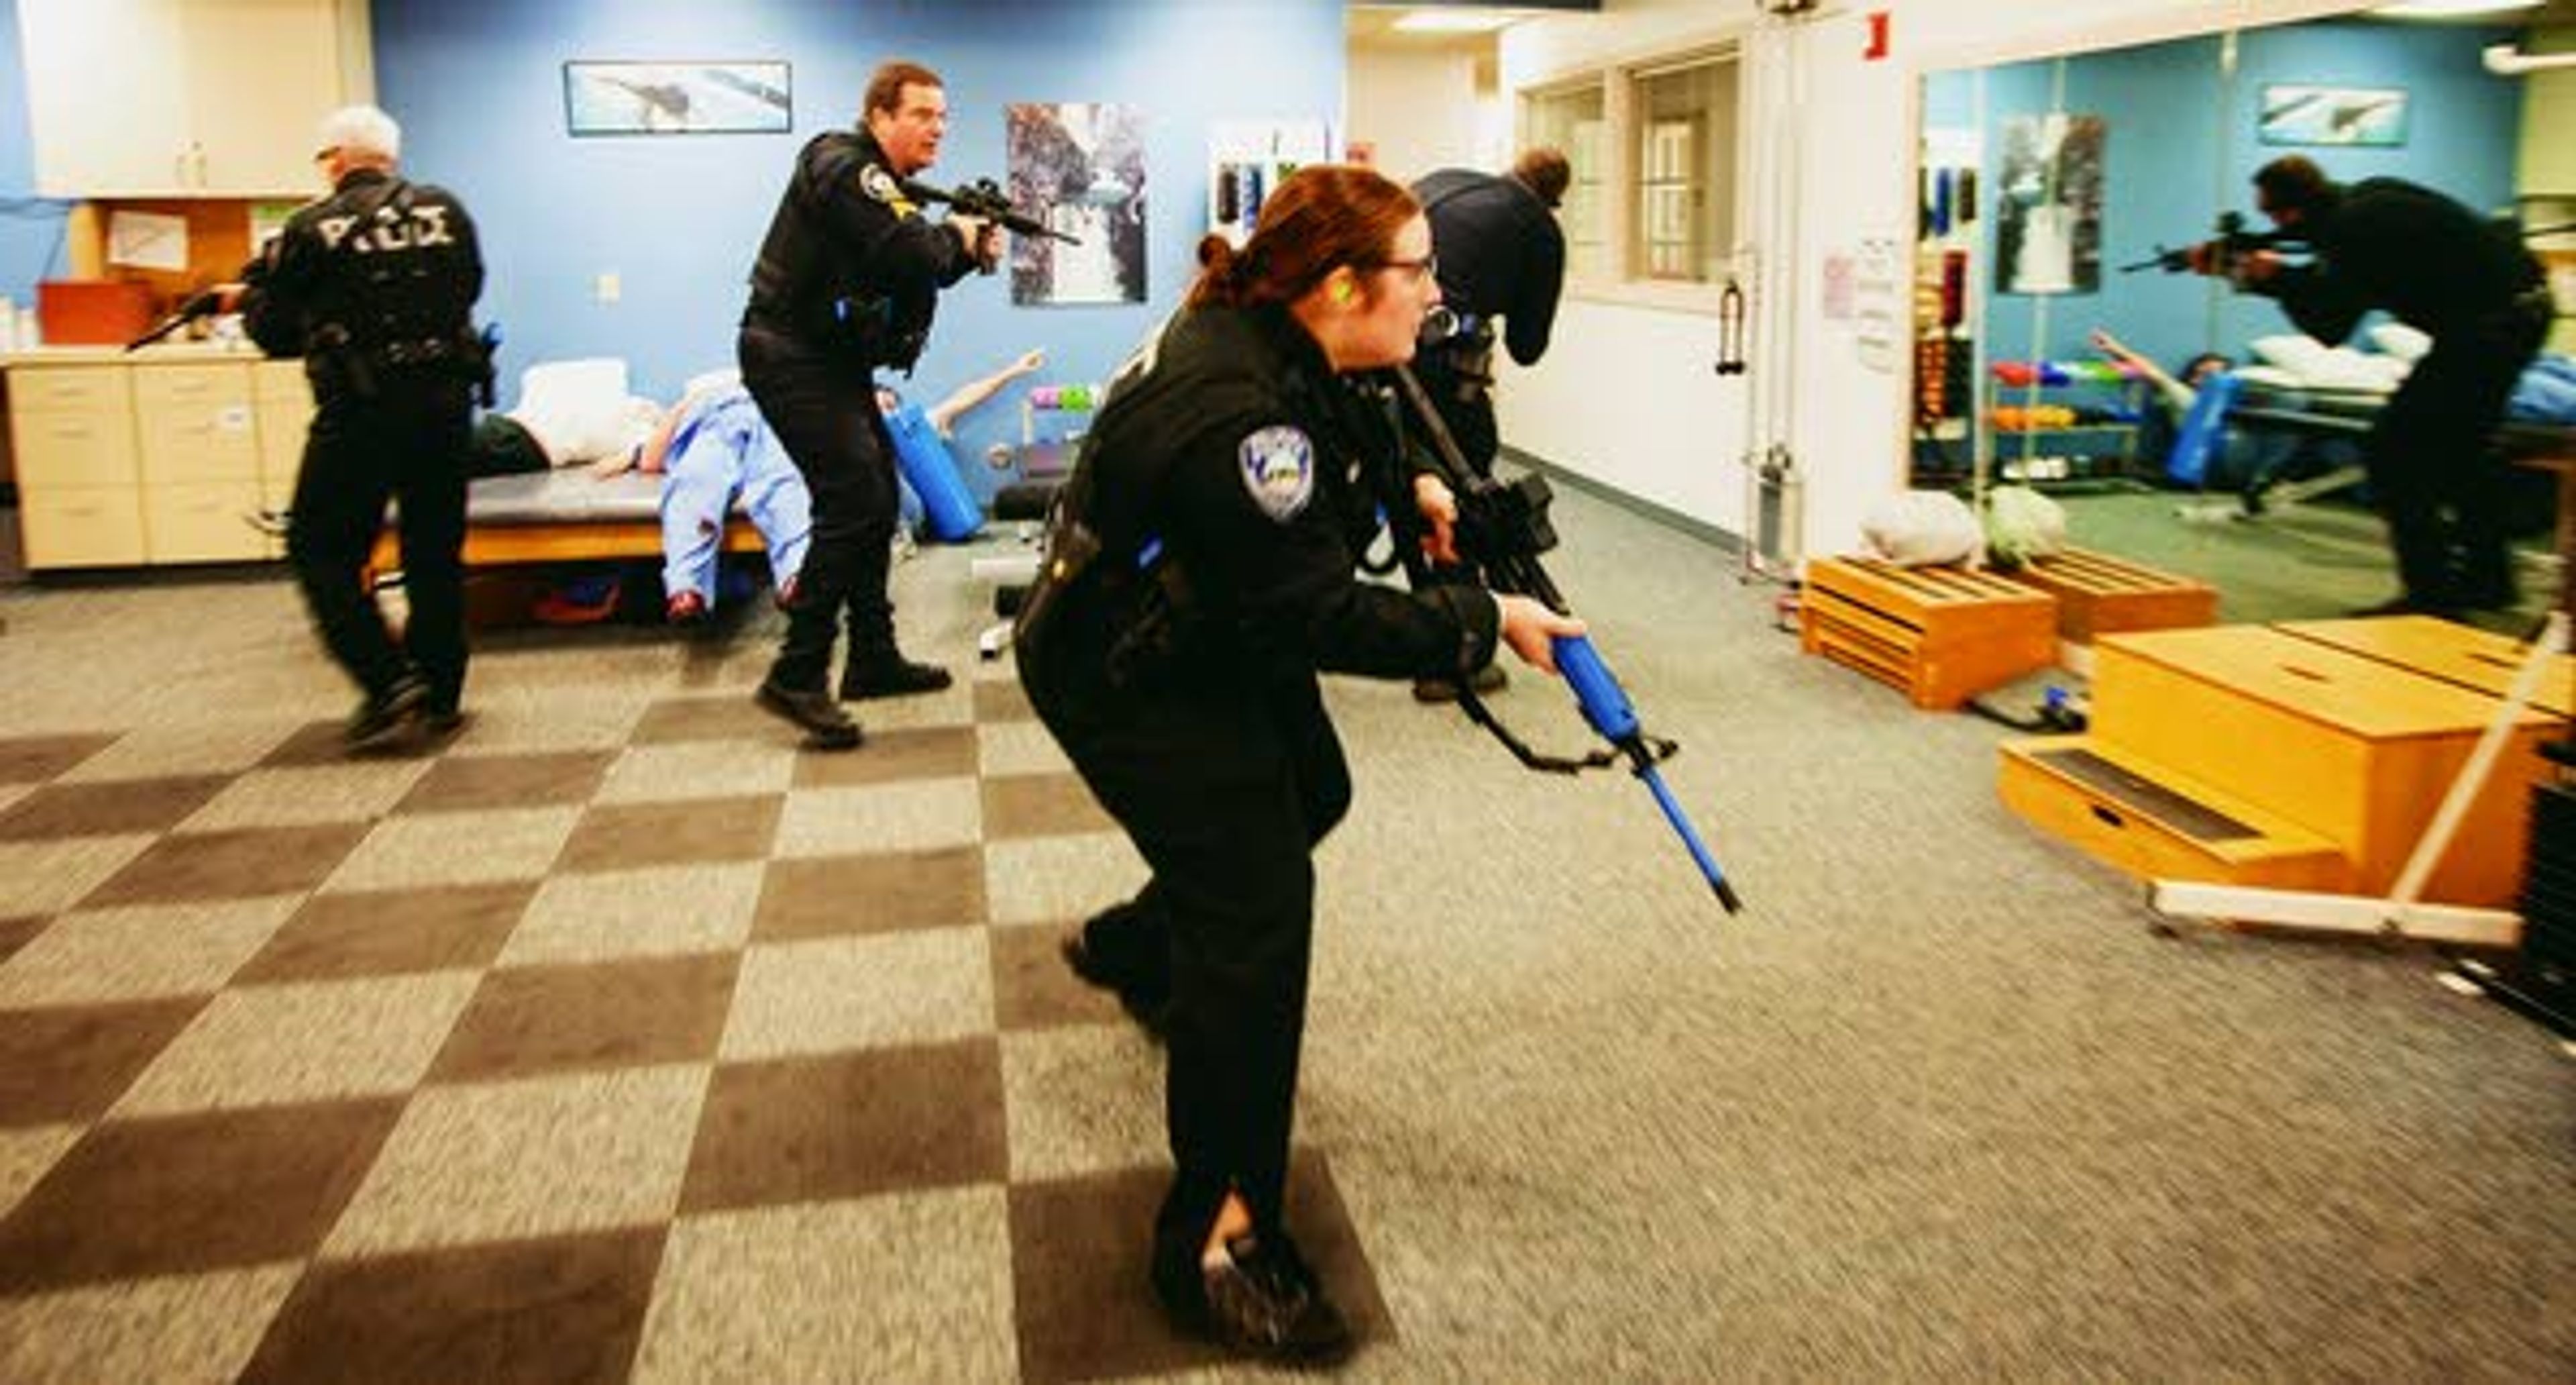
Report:
M2406 600L2429 610L2514 600L2506 461L2494 427L2548 335L2543 304L2517 304L2434 335L2362 443Z

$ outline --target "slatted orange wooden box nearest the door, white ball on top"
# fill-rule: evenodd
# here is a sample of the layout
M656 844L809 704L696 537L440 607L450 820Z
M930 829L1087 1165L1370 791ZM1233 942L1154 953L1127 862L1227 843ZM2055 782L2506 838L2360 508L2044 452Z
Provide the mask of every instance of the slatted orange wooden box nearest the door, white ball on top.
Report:
M1819 559L1798 600L1798 644L1947 711L2045 669L2058 654L2056 600L1991 572Z

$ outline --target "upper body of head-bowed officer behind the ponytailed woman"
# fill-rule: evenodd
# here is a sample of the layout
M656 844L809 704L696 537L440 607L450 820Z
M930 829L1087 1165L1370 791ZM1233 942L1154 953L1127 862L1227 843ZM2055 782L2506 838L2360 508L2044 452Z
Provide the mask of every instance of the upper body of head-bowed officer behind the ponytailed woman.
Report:
M1520 366L1538 366L1566 283L1566 232L1556 206L1571 170L1548 147L1525 149L1507 178L1443 167L1414 183L1432 219L1448 332L1425 342L1414 376L1479 476L1494 474L1494 319ZM1435 319L1437 322L1437 319Z

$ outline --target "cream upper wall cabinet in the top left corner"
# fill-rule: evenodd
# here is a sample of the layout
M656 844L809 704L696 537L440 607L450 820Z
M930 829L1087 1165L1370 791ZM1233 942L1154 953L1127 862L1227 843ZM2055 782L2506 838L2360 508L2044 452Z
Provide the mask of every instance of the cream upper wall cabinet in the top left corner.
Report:
M363 100L350 0L18 0L36 191L309 193L312 131Z

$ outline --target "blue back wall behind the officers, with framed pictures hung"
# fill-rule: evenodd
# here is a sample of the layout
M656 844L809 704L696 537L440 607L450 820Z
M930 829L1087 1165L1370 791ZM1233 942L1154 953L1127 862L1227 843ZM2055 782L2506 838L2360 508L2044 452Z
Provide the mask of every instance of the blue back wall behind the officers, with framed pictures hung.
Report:
M376 0L374 33L404 170L453 188L482 227L505 404L533 360L623 355L659 396L732 363L788 165L814 131L855 121L881 59L948 82L927 180L999 178L1007 103L1123 100L1146 116L1149 301L1012 306L1007 275L966 281L899 381L925 402L1028 348L1048 350L1041 381L1105 378L1195 273L1211 124L1342 111L1340 0ZM791 62L796 134L564 134L564 59L677 57ZM600 273L623 281L621 301L595 301ZM997 402L958 432L974 456L1015 438L1018 414Z

